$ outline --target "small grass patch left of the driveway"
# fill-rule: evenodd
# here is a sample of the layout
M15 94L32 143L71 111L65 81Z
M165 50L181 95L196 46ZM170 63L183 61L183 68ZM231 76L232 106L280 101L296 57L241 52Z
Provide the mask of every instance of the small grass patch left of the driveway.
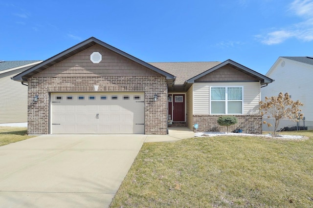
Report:
M31 137L34 136L28 136L27 128L25 127L0 126L0 146L19 142L25 139L29 139Z

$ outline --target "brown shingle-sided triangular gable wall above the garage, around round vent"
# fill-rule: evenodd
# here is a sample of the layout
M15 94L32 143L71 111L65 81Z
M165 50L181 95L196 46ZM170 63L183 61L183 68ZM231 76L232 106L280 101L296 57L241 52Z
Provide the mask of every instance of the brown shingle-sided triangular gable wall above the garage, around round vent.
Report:
M94 64L90 54L99 52L102 61ZM130 61L98 44L35 74L33 77L161 77L155 71Z

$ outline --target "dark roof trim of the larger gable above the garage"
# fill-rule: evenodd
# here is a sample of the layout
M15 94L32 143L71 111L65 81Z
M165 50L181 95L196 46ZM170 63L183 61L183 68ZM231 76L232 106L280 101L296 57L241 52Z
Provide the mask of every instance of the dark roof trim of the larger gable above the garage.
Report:
M105 42L102 42L94 37L91 37L89 39L87 39L86 41L83 41L83 42L80 42L78 43L77 45L74 45L70 48L68 48L67 50L45 60L44 62L34 66L34 67L31 67L30 69L16 75L13 77L13 80L15 81L20 81L20 82L27 82L27 79L36 75L37 73L45 70L46 68L48 67L51 67L53 65L55 65L56 63L59 63L59 62L62 62L64 60L66 60L67 58L75 55L75 54L78 54L86 49L88 49L89 47L93 46L93 45L100 45L110 51L112 51L113 53L116 53L132 62L135 62L137 64L140 64L142 66L145 66L147 67L148 69L151 69L152 71L160 74L160 75L163 75L166 77L168 81L168 83L173 83L173 81L175 80L175 76L173 76L172 74L168 73L168 72L165 72L147 62L143 62L141 61L140 59L137 59L135 58L134 56L128 54L128 53L125 53L124 51L121 51L115 47L113 47L112 45L109 45Z

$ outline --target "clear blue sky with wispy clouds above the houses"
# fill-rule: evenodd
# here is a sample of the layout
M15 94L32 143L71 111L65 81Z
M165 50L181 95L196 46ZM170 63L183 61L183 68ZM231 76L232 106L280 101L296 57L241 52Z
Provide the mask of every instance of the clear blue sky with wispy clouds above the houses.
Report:
M145 62L231 59L262 74L313 56L313 0L1 0L0 60L46 60L95 37Z

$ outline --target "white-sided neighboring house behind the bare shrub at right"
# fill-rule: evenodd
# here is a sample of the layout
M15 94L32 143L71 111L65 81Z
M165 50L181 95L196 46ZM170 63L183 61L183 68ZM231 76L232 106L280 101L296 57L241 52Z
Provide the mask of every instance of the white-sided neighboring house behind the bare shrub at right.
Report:
M262 100L265 97L278 96L280 92L289 93L293 101L299 100L304 105L300 107L305 119L292 122L281 120L278 130L284 127L305 125L313 129L313 57L279 57L268 70L266 76L275 80L267 87L262 88ZM265 119L273 124L272 120ZM271 130L263 125L263 130Z

